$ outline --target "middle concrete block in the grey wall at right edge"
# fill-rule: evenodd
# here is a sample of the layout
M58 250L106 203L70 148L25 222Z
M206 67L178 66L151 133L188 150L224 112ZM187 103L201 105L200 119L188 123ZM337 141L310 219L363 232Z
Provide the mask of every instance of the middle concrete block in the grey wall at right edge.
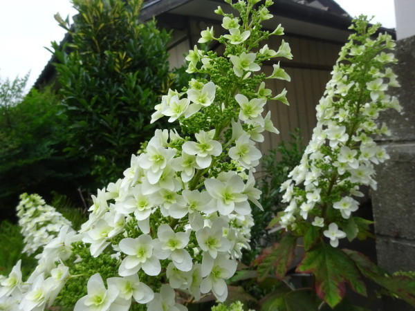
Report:
M415 143L388 144L391 158L376 166L376 234L415 240Z

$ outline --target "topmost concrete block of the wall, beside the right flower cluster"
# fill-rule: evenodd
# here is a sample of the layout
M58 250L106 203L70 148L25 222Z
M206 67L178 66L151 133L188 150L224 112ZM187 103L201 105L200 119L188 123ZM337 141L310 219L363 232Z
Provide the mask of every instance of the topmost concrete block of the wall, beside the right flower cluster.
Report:
M392 66L398 75L400 88L389 88L389 95L398 97L403 113L392 109L380 115L379 121L385 122L392 135L379 140L414 141L415 140L415 37L396 42L395 50L398 64Z

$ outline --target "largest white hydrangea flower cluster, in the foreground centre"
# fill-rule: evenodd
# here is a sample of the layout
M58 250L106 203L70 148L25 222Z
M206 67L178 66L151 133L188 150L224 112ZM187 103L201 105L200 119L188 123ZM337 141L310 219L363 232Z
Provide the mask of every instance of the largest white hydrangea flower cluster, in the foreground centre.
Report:
M8 285L2 283L8 288L3 296L17 286L21 310L52 305L57 283L50 271L62 271L59 284L77 277L67 273L64 263L73 253L72 243L82 241L94 258L104 252L118 258L118 276L104 280L93 274L76 311L129 310L133 301L146 303L151 311L187 310L176 301L176 292L184 292L188 301L210 292L225 301L225 280L236 272L241 249L249 247L250 202L261 208L253 176L261 158L256 142L264 141L264 131L278 133L270 113L262 116L264 105L267 100L286 103L286 91L273 98L263 80L290 79L279 66L269 77L255 74L265 60L292 57L284 41L278 52L264 46L250 53L262 39L283 34L281 26L272 34L261 31L261 21L272 17L267 7L273 2L266 0L256 11L257 2L230 3L243 19L220 7L215 11L223 15L223 28L230 34L215 38L208 28L199 42L225 44L225 57L195 47L187 70L208 75L210 81L192 79L187 91L169 90L155 107L152 121L164 116L178 120L187 136L156 130L145 150L131 157L124 178L92 196L89 220L80 232L66 226L44 247L24 285L28 289L10 285L20 284L21 278L13 276L13 282L9 276ZM148 281L151 277L158 281ZM160 279L162 285L154 286Z

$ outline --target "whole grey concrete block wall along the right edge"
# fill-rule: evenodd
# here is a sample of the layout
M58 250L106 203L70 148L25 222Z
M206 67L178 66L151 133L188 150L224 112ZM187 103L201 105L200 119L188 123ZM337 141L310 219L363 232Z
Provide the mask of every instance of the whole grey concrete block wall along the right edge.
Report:
M371 194L378 265L389 272L415 271L415 36L396 42L398 64L393 67L400 88L396 95L403 113L380 117L392 135L378 138L390 159L376 166L378 189ZM384 299L383 310L414 310L402 301Z

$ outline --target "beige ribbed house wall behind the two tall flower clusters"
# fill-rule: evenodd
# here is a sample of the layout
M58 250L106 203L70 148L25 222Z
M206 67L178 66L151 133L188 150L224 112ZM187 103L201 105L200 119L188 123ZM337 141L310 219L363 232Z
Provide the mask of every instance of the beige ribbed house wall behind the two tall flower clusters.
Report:
M200 37L201 30L205 30L207 25L212 23L190 20L189 24L190 36L169 50L169 61L172 67L185 64L183 55L193 48ZM215 25L215 31L220 31L219 25ZM330 79L331 68L342 46L341 43L296 35L273 36L266 43L270 48L278 50L282 39L290 44L293 60L275 59L275 62L281 60L281 66L291 76L291 82L272 79L267 81L267 86L273 90L275 95L286 88L290 106L277 101L270 101L266 104L266 111L271 111L274 125L279 129L280 134L266 135L265 142L260 146L264 153L276 147L282 140L289 140L290 133L297 127L302 130L303 144L308 143L316 124L315 106L324 93L326 83ZM220 53L219 50L218 53ZM267 74L273 71L271 64L266 64L263 68Z

